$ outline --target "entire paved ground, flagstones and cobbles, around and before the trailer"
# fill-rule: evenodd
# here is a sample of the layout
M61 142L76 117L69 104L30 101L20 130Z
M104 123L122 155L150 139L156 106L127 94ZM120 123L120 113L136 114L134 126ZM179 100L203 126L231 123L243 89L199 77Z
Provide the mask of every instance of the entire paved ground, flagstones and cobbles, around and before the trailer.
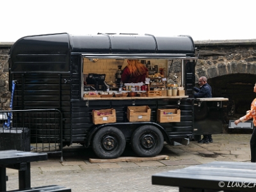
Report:
M161 154L169 159L159 161L90 163L89 158L95 158L95 155L90 148L81 148L82 153L71 152L64 156L62 163L60 157L31 163L31 187L58 184L71 188L72 192L177 192L177 187L152 185L152 175L212 161L250 161L250 134L216 134L212 137L214 143L209 144L190 141L188 146L165 145ZM134 154L126 150L124 156ZM18 189L18 171L7 169L7 175L7 190Z

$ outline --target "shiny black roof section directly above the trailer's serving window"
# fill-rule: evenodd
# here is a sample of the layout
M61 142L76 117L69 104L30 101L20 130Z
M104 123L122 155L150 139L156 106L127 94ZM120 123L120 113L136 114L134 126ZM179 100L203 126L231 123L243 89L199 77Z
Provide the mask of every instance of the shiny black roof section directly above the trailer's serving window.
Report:
M186 58L195 56L190 36L86 35L70 36L72 54L88 58Z

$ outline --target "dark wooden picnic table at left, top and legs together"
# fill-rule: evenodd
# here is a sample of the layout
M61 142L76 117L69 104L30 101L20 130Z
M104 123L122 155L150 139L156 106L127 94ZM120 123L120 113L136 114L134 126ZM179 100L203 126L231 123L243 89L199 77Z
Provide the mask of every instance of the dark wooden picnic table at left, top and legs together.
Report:
M31 188L30 163L47 160L47 153L0 151L0 191L6 191L6 168L19 170L19 189Z

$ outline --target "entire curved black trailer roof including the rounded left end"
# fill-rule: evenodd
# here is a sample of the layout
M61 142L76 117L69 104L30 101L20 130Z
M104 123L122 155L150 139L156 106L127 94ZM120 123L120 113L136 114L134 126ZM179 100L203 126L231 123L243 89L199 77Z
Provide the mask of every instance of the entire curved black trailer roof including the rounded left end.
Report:
M10 49L12 72L70 70L70 56L86 58L197 59L190 36L84 35L68 33L25 36Z

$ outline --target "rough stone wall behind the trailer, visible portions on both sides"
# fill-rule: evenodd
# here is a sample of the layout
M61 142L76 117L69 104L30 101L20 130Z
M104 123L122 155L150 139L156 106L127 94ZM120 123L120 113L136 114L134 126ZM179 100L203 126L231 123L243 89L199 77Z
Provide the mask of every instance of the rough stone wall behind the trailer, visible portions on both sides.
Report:
M8 92L8 53L12 43L0 43L0 109L10 107ZM196 61L195 81L200 76L208 79L228 74L256 74L256 40L197 41L199 59ZM218 52L225 55L207 56L200 52ZM169 61L168 77L180 84L180 61Z

